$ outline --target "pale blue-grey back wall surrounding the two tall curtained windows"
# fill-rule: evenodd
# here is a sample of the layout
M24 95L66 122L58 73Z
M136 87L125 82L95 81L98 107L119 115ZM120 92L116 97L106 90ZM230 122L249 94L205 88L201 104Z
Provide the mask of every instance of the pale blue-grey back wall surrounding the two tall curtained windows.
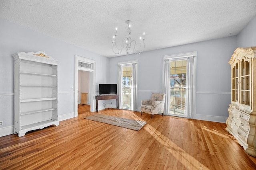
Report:
M145 42L146 43L146 42ZM195 119L226 121L230 104L230 65L228 61L236 49L236 37L214 39L166 49L110 58L110 81L117 82L117 63L139 60L138 111L140 101L153 92L162 92L162 57L197 51L197 94ZM220 98L222 100L220 100Z

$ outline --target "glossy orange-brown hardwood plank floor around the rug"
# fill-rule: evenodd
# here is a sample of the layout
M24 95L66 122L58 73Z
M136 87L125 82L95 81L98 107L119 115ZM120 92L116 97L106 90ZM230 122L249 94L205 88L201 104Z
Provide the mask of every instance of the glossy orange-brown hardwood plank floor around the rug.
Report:
M0 137L0 169L252 170L246 154L225 123L105 109L101 114L147 121L134 131L78 117L31 131Z

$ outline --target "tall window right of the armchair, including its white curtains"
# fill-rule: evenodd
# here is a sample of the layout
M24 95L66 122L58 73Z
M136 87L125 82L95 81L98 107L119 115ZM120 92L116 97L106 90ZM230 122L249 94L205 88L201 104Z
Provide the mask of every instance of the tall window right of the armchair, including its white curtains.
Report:
M196 52L163 56L165 115L190 118L196 105Z

